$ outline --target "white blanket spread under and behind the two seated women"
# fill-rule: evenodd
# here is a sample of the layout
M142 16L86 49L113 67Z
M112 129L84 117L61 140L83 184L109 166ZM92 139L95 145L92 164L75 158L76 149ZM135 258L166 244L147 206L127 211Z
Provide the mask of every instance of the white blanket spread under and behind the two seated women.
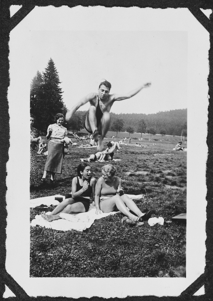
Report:
M144 194L138 194L138 195L127 194L127 195L135 200L144 198ZM41 204L47 206L50 206L51 204L56 205L56 202L57 204L59 203L58 201L55 200L56 196L59 197L59 195L54 195L50 197L40 197L38 199L30 200L30 203L31 201L33 203L30 204L30 207L31 208L36 207L35 204L37 204L37 206ZM63 197L63 199L64 198L65 197ZM83 230L90 228L96 219L102 219L103 217L114 215L120 212L120 211L114 211L110 213L101 212L101 214L96 214L95 211L96 211L95 206L91 204L88 212L73 213L73 214L60 213L61 219L57 219L52 222L48 222L47 220L44 220L41 215L36 215L35 219L32 220L30 225L33 227L39 225L41 227L50 228L54 230L61 230L61 231L69 231L71 229L74 229L82 232ZM50 214L50 212L47 212L46 214Z

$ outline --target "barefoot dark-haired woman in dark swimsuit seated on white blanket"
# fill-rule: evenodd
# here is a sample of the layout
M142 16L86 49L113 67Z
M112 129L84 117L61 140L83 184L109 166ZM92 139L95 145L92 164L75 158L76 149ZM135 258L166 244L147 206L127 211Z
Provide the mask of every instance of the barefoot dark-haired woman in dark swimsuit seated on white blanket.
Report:
M91 177L91 167L87 163L81 163L77 167L77 177L72 179L72 197L63 200L49 214L41 213L43 219L52 222L60 219L60 213L87 212L90 207L91 195L94 197L96 179Z

